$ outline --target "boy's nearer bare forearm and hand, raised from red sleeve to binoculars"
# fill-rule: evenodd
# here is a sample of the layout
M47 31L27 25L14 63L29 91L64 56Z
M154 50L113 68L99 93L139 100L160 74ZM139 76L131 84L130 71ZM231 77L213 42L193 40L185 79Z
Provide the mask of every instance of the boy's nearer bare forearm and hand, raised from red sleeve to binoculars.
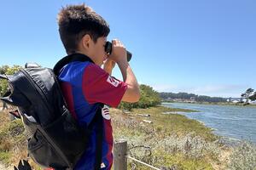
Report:
M137 102L140 99L139 85L127 61L125 47L119 40L113 40L113 51L109 58L113 59L113 61L119 65L124 82L127 84L127 89L123 95L122 101Z

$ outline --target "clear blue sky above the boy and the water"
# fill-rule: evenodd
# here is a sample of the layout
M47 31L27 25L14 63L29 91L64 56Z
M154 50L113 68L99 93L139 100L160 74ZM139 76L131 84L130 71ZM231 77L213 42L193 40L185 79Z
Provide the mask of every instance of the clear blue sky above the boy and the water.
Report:
M61 6L86 3L133 57L140 83L159 92L239 97L256 88L256 1L1 1L0 65L53 67L65 56ZM117 68L113 76L121 79Z

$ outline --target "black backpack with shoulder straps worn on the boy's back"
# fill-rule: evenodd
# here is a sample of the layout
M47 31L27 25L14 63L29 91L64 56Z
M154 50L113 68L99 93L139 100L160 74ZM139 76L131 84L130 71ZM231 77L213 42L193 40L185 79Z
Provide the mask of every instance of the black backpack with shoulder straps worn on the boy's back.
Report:
M67 110L57 77L64 65L72 61L90 61L83 54L72 54L61 59L52 71L37 64L26 64L7 79L9 90L1 98L18 107L28 133L28 153L41 167L73 169L86 150L90 125L80 127ZM96 127L96 166L100 169L102 157L102 105L92 122Z

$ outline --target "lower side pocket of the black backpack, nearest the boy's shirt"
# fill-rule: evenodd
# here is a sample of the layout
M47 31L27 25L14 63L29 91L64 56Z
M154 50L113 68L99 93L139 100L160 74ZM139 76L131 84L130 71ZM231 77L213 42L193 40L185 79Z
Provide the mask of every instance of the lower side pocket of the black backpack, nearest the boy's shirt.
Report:
M86 149L90 137L88 128L82 128L68 110L47 127L45 133L61 149L67 160L75 165Z

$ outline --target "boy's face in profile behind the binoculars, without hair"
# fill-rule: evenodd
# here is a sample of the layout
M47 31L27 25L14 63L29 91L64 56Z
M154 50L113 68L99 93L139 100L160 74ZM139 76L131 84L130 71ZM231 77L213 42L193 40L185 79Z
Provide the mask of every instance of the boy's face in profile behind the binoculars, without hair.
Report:
M105 52L106 42L107 37L99 37L96 42L92 42L90 57L96 65L101 66L103 61L107 59L107 53Z

